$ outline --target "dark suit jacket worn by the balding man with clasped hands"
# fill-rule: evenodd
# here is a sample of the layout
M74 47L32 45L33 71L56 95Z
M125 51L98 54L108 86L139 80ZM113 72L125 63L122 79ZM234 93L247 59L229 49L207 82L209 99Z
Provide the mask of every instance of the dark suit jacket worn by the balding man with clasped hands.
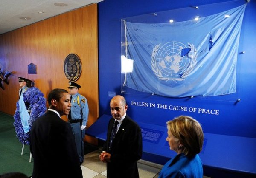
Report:
M128 116L116 133L108 149L109 139L115 119L108 123L107 140L103 150L111 154L111 162L107 163L107 176L109 178L139 178L137 160L142 156L142 136L140 127Z

